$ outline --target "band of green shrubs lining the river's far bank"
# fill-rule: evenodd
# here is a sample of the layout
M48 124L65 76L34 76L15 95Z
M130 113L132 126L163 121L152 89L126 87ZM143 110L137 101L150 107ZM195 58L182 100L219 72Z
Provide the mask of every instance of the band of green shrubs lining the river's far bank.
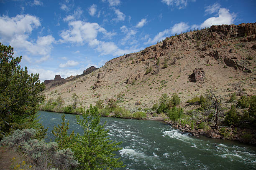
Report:
M63 106L64 101L58 96L56 100L51 98L46 103L41 103L40 110L79 115L84 108L82 105L77 106L78 96L75 93L72 96L71 105ZM215 96L212 90L208 90L205 96L188 100L187 105L195 105L197 108L186 111L178 107L180 97L175 93L172 97L162 94L159 102L152 108L139 107L131 111L118 106L121 99L120 95L117 99L98 100L95 106L99 109L100 116L160 120L193 136L205 135L210 138L238 140L256 145L256 96L241 96L238 99L234 93L229 100L232 106L225 108L222 107L221 97Z

